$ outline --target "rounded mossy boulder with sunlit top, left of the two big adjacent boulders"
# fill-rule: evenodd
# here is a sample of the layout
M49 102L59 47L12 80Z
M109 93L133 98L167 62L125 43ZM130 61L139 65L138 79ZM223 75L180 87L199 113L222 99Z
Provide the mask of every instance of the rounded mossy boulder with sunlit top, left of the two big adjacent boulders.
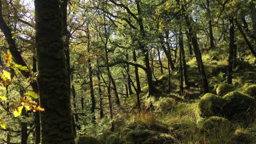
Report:
M222 116L225 101L215 94L207 93L199 101L199 112L201 117Z

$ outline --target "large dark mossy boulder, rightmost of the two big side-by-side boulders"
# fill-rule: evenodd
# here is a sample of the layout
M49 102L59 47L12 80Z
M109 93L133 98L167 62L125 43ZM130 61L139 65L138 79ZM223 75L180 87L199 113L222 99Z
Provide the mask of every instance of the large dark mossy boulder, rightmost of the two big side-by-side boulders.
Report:
M242 119L253 116L255 101L241 93L230 92L223 97L226 100L225 115L230 119Z

